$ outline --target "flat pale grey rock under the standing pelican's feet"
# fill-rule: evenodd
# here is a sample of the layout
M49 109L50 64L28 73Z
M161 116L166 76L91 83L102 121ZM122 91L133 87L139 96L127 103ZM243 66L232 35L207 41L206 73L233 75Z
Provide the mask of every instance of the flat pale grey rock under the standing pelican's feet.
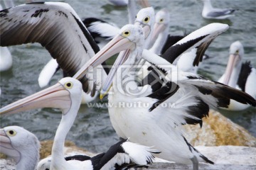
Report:
M238 146L196 147L215 164L199 164L199 169L244 170L256 169L256 148ZM192 164L175 164L170 162L155 162L149 169L193 169Z

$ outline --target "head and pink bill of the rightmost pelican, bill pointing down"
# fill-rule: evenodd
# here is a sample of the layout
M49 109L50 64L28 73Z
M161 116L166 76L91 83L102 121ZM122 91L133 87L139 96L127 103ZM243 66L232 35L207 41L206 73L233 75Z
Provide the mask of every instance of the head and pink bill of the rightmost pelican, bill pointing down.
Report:
M224 78L223 84L232 86L229 82L230 78L235 76L233 74L238 74L238 73L234 73L234 71L238 71L238 72L240 71L243 55L244 55L244 49L242 47L242 43L240 41L233 42L230 45L230 56L228 59L227 68L225 69L225 78Z

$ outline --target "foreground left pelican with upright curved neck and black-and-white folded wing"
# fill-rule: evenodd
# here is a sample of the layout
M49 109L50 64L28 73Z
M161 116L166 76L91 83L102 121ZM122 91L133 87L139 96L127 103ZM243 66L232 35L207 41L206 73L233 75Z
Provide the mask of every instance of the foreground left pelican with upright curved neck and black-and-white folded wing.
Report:
M35 108L60 108L62 118L54 137L50 169L114 169L115 164L120 166L122 164L127 164L127 166L151 164L154 160L151 153L159 152L127 140L118 142L110 147L106 154L97 155L90 160L67 162L64 155L65 137L75 121L81 100L82 84L80 81L65 77L48 89L1 108L0 114L9 115Z

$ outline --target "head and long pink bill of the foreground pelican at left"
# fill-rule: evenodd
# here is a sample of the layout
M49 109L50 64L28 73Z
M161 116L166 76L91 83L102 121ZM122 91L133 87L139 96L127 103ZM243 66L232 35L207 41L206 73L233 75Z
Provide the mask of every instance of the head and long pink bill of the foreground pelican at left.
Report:
M60 79L57 84L23 98L0 109L1 115L28 111L36 108L60 108L63 115L82 100L82 84L71 77Z

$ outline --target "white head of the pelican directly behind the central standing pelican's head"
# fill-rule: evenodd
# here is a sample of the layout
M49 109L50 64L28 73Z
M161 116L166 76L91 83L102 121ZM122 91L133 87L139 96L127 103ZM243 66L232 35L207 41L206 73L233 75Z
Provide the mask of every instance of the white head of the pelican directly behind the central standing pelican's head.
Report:
M151 40L151 34L154 27L155 22L155 13L153 7L142 8L136 16L136 20L134 25L142 26L145 29L145 43L149 43ZM147 45L145 45L147 47Z

